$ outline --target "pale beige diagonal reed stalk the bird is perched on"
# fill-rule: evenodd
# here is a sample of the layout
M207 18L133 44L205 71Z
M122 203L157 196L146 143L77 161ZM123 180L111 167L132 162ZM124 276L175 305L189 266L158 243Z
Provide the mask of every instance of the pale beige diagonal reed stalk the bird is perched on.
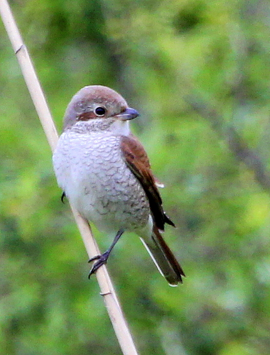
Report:
M0 14L22 70L30 96L37 111L37 115L53 152L58 140L56 128L43 94L43 90L41 89L36 76L28 50L23 43L22 37L20 36L7 0L0 0ZM89 258L100 254L88 222L82 218L72 206L71 210L81 233L81 237L84 240ZM100 267L96 272L96 276L101 290L100 294L103 296L122 353L124 355L138 355L107 268L105 266Z

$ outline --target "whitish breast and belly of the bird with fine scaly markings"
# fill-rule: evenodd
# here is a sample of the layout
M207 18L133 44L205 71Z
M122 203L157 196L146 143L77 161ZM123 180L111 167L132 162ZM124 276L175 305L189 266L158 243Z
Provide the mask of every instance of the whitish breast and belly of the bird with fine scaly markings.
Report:
M74 207L100 230L146 225L149 202L126 165L120 136L61 135L53 162L58 184Z

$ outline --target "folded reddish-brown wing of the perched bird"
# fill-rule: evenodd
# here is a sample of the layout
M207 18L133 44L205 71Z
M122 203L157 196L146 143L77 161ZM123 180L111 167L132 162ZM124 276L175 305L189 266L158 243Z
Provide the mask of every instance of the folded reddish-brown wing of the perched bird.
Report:
M157 228L163 231L164 223L174 226L174 223L163 211L162 200L150 168L147 153L142 144L133 135L128 137L122 136L121 150L127 165L141 183L142 188L148 197L151 214Z

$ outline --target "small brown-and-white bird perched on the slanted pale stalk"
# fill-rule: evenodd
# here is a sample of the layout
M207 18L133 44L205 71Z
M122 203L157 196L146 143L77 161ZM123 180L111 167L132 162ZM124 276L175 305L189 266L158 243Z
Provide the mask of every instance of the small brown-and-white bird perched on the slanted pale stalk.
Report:
M164 212L149 158L131 133L138 116L115 90L102 85L81 88L64 116L63 133L53 154L58 185L79 214L112 237L109 249L91 258L89 277L107 263L125 231L135 232L169 285L185 276L161 233L174 223ZM130 242L132 244L132 242Z

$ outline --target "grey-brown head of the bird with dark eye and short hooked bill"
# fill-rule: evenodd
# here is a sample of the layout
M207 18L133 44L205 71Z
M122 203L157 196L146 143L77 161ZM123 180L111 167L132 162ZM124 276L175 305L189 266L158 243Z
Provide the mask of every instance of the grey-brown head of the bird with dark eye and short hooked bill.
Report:
M100 118L131 120L138 116L134 108L118 92L107 86L90 85L80 89L71 99L65 116L64 127L72 127L77 121Z

